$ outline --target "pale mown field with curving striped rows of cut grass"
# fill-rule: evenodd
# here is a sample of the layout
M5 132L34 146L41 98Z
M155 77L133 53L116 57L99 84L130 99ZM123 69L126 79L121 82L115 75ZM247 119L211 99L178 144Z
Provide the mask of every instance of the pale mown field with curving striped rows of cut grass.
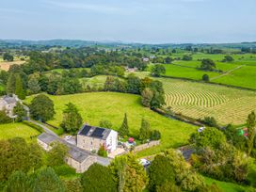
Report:
M256 92L161 78L166 103L176 113L194 119L215 117L221 124L244 124L256 110Z

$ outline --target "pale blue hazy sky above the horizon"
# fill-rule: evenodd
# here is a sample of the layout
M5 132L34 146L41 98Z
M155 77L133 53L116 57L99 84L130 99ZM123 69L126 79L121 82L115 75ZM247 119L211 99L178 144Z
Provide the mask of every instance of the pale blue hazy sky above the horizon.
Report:
M0 39L256 41L256 0L0 0Z

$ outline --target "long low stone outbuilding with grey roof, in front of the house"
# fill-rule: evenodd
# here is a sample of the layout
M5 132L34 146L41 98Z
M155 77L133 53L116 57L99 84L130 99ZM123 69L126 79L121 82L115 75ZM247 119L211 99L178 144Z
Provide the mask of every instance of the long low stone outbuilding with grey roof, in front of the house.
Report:
M109 160L107 158L79 149L75 145L66 142L58 136L53 136L47 133L43 133L38 136L38 143L45 151L50 151L52 149L51 144L54 142L61 142L69 148L69 155L65 159L66 163L72 168L75 168L78 173L86 171L94 163L99 163L103 166L107 166L109 164Z

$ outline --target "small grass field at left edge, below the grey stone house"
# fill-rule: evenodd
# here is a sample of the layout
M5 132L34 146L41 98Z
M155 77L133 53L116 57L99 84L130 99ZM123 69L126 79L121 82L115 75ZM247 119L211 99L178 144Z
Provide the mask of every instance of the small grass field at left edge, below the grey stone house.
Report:
M30 136L38 136L40 133L24 123L8 123L0 125L0 139L23 137L30 140Z

